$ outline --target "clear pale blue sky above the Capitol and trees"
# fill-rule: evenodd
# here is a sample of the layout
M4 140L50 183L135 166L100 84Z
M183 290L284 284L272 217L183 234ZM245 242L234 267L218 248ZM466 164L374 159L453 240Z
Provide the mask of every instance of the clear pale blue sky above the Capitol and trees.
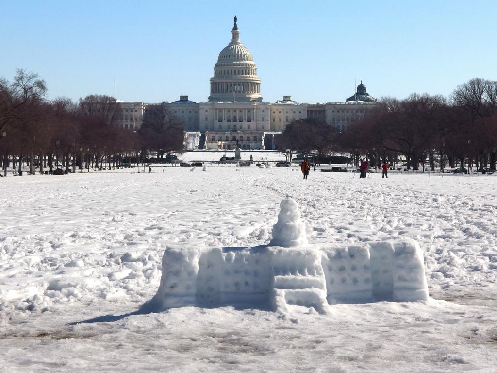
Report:
M205 101L238 17L264 101L342 101L362 79L375 97L449 95L497 80L497 1L9 1L0 76L25 68L49 98Z

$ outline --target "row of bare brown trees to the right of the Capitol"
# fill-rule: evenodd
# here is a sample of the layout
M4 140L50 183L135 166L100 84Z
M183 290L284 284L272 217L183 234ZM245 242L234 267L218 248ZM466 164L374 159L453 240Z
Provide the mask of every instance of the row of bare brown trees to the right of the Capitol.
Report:
M413 93L405 99L384 97L365 116L340 133L308 118L290 123L277 140L280 149L295 149L323 159L348 153L355 164L374 166L404 161L407 169L428 164L443 170L464 164L496 168L497 82L480 78L442 95Z

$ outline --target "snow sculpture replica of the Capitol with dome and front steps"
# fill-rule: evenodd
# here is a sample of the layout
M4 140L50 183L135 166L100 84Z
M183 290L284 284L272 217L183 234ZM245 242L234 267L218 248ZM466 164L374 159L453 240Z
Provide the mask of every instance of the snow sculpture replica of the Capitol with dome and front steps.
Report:
M309 245L293 199L281 202L273 239L246 248L167 247L156 311L187 305L243 304L327 313L337 302L427 300L416 242Z

